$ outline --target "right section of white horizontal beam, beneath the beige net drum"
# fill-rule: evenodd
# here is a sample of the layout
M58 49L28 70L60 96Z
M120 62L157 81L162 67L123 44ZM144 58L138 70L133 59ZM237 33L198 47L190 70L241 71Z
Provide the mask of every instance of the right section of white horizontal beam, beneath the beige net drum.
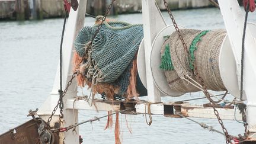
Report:
M168 103L165 103L168 105ZM173 104L173 103L169 103ZM146 108L146 113L148 113L148 107L145 107L145 103L137 104L136 111L137 113L144 114ZM229 108L216 108L219 111L219 116L223 120L235 120L235 109ZM181 104L181 113L187 117L199 117L205 119L216 119L216 116L213 112L213 108L204 108L202 105L190 105L188 103ZM164 104L151 104L151 114L164 114ZM172 117L172 116L171 116ZM239 114L239 111L236 111L236 120L241 121L242 116Z

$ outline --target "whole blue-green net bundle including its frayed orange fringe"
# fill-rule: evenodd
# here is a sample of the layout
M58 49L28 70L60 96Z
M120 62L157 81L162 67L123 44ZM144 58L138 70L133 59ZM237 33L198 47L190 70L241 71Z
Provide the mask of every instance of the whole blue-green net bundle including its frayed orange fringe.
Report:
M143 39L142 24L104 22L91 41L98 26L84 27L76 37L75 59L82 61L78 65L79 60L75 60L76 68L82 73L78 84L88 85L94 94L98 92L111 99L136 96L137 67L133 61ZM133 87L133 91L129 87Z

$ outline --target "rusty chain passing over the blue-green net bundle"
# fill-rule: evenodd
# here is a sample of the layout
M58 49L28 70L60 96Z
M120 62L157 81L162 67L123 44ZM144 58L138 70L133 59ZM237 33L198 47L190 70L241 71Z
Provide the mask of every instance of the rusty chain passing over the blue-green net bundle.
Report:
M95 31L94 36L92 37L92 40L91 40L91 41L93 41L93 40L95 39L95 37L97 36L98 32L100 31L100 28L102 27L102 25L103 25L103 23L104 23L104 21L105 21L107 15L108 15L108 12L109 12L110 9L113 7L114 1L116 1L116 0L112 0L112 1L111 1L111 4L108 6L107 11L105 12L104 17L102 18L102 21L101 21L100 25L98 25L98 29ZM89 43L89 46L91 46L91 44L92 44L92 42ZM81 61L81 62L82 62L82 61ZM58 108L59 106L60 106L60 118L63 118L63 113L62 113L62 112L63 112L63 102L62 102L63 97L66 95L66 92L68 91L69 86L72 84L72 81L73 81L73 79L75 78L75 76L76 76L76 75L79 75L79 74L81 74L81 73L78 72L78 71L74 72L74 73L72 74L72 76L71 76L71 79L68 81L68 84L66 85L66 88L64 89L64 91L63 91L62 93L60 93L60 97L59 97L59 100L57 101L57 105L55 106L55 108L54 108L53 111L52 111L52 114L51 114L50 117L48 118L47 123L46 123L46 127L49 126L49 123L50 123L50 121L52 120L52 117L53 117L53 115L56 113L56 110L57 110L57 108Z

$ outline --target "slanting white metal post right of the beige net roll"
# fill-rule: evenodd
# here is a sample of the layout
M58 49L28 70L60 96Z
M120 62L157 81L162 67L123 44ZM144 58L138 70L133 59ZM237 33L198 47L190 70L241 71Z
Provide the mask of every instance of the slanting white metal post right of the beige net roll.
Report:
M220 10L223 15L223 20L226 30L231 41L231 46L236 60L236 73L238 82L241 76L241 41L242 31L244 28L244 16L237 1L225 0L219 1ZM247 97L247 111L248 111L248 130L249 132L256 132L256 42L253 39L250 28L247 27L245 35L245 59L244 59L244 94Z

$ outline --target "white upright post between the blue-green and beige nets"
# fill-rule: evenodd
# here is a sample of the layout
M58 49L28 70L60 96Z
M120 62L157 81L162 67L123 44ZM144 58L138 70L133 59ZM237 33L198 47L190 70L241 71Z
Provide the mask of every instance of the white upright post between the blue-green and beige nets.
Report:
M153 82L151 72L151 49L152 43L158 31L166 26L161 12L155 4L155 1L142 0L142 19L143 19L143 33L145 41L145 65L146 65L146 81L148 89L149 101L156 103L161 101L159 89Z

